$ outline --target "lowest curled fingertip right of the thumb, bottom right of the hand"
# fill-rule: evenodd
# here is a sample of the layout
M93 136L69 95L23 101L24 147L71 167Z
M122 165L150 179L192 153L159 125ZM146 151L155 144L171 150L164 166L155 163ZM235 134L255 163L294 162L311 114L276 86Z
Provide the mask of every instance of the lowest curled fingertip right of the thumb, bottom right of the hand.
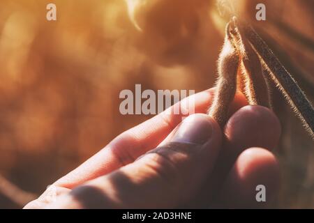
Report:
M223 185L219 206L263 208L273 201L280 185L279 165L263 148L249 148L239 155Z

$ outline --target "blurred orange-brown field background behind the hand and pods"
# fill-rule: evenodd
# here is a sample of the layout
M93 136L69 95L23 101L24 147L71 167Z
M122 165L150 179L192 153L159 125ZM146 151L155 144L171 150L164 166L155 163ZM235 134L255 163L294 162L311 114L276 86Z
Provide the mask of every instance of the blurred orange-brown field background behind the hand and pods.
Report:
M46 20L48 3L57 21ZM0 208L21 208L150 118L121 115L121 90L213 86L230 3L313 102L311 0L1 0ZM264 22L255 20L257 3L267 7ZM273 207L314 208L313 141L280 93L272 95L283 125Z

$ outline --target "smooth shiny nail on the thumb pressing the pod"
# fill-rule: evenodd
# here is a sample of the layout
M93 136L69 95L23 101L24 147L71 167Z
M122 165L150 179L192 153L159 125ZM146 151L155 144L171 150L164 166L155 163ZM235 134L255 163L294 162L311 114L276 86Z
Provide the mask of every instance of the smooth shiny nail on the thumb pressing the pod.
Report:
M189 144L205 144L211 138L213 126L204 114L188 116L174 133L170 141Z

